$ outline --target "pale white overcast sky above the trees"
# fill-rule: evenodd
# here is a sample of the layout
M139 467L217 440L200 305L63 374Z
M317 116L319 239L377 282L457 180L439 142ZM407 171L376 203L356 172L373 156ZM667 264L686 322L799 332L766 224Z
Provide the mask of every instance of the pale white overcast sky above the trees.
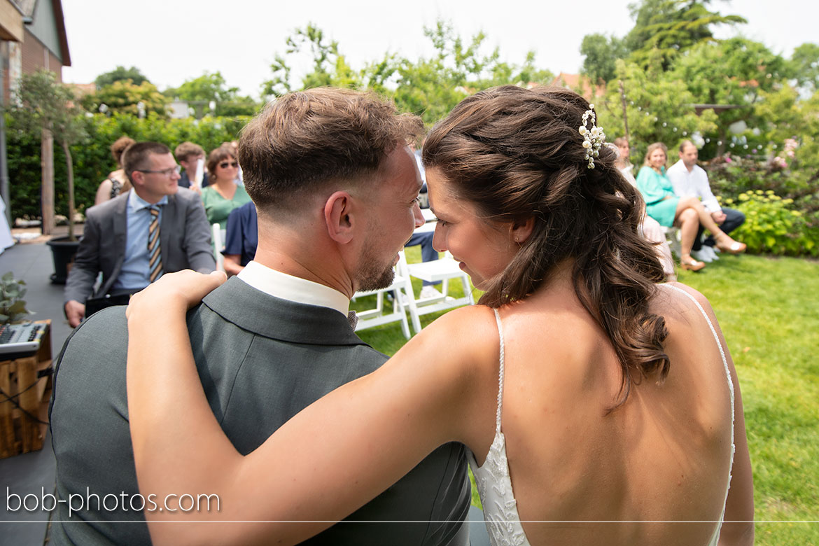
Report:
M622 37L634 22L630 0L62 0L71 66L63 80L90 83L116 65L136 66L160 90L219 71L231 87L258 97L270 79L274 55L284 53L293 29L308 23L339 43L358 69L385 52L417 59L432 46L424 26L449 21L463 38L483 31L486 53L500 47L502 60L535 64L558 74L577 74L584 35ZM711 9L749 21L719 29L718 38L742 34L790 56L801 43L819 43L819 4L803 0L713 0ZM306 70L306 63L295 70Z

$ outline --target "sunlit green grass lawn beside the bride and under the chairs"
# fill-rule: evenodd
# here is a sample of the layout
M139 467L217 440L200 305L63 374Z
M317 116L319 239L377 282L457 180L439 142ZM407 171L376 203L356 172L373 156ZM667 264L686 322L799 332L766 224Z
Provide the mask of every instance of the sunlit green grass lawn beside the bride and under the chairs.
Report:
M757 525L756 544L819 546L819 523L801 523L819 520L819 262L722 255L678 273L711 301L740 377L755 517L774 522ZM398 324L360 333L387 354L405 342Z

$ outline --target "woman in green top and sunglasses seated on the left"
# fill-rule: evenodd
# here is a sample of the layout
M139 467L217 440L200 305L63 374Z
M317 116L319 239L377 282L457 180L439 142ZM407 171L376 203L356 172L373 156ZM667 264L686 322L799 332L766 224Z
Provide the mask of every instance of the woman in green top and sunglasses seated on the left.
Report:
M245 188L236 183L239 164L233 147L223 144L210 152L207 158L207 172L210 185L202 190L202 204L210 223L219 223L224 229L230 211L251 201Z

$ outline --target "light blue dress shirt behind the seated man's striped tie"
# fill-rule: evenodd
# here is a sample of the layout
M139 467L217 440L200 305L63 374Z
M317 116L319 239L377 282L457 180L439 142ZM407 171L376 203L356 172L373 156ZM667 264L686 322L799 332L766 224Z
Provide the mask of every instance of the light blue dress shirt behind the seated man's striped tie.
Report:
M162 205L168 204L168 196L154 205L159 206L159 222L162 225ZM126 223L125 260L120 274L114 281L112 291L139 291L151 282L148 268L148 228L151 227L151 207L154 206L131 190L125 214ZM160 232L161 235L161 232ZM161 250L160 250L161 251ZM161 257L161 255L160 255Z

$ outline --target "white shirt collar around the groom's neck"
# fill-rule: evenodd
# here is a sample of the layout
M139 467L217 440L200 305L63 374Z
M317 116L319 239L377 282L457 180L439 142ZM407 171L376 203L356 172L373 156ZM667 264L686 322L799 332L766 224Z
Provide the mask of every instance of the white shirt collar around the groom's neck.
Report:
M256 261L247 264L237 277L256 290L283 300L329 307L345 317L350 311L350 300L341 292L318 282L276 271Z

